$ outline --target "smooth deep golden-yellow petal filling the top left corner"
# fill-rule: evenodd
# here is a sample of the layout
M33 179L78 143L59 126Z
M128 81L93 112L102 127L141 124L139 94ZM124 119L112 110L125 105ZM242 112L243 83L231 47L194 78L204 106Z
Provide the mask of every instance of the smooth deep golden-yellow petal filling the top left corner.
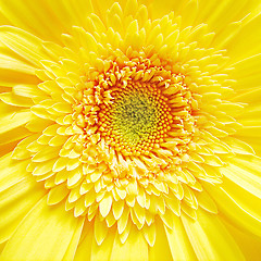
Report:
M87 1L86 5L83 5L83 3L79 5L71 3L70 1L59 0L55 3L48 2L49 1L39 1L36 4L36 2L32 0L23 2L11 0L9 4L7 4L5 1L1 1L0 5L4 16L7 16L13 25L28 32L33 32L34 34L42 37L42 39L51 39L53 41L59 41L59 36L67 29L64 21L69 23L69 26L71 26L71 18L73 18L75 23L79 23L77 22L79 17L85 17L84 15L86 15L86 10L90 8L90 4L87 4ZM39 5L41 7L40 9ZM75 14L75 11L78 10L79 7L82 8L82 11L85 10L85 12L80 13L77 11L77 14ZM15 9L21 12L18 16L13 12ZM53 24L50 23L50 21L53 21Z

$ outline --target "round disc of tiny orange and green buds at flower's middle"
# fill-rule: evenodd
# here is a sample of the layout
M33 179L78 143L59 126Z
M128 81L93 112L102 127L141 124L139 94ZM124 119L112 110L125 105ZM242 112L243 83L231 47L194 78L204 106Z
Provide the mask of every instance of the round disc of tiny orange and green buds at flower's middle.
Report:
M99 114L107 144L123 154L147 154L171 128L171 109L156 86L130 82L116 87L113 102Z

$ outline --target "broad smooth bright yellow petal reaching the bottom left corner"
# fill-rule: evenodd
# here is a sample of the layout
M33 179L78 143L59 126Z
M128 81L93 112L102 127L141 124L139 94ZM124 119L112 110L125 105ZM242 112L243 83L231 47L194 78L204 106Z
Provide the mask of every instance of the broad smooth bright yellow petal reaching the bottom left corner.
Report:
M45 197L20 224L0 260L62 260L77 223L63 204L49 207Z

